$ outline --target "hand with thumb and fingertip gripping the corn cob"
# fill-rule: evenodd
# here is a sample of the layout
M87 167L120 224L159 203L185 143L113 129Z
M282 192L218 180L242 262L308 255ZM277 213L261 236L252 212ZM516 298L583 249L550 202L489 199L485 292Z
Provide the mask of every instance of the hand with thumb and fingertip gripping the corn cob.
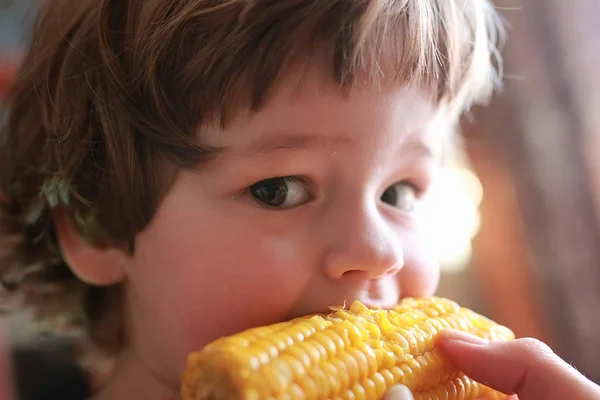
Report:
M536 339L488 342L454 330L440 333L438 345L472 379L519 400L600 399L595 385ZM410 400L404 387L385 400ZM515 399L516 396L511 397Z

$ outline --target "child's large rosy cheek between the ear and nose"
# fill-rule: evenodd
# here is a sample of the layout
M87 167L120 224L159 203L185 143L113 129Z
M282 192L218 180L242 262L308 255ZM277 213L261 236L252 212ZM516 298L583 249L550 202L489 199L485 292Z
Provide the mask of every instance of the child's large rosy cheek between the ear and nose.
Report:
M142 235L130 280L144 324L160 321L161 341L188 352L289 313L310 279L301 246L247 225L214 214L157 218Z

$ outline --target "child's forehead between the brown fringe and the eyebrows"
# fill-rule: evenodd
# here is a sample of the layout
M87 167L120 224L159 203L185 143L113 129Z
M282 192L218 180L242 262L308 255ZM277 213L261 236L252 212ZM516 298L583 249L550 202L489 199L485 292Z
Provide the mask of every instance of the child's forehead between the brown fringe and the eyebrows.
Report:
M213 147L244 146L257 139L278 142L278 136L302 142L303 135L316 137L315 142L331 136L327 140L339 144L369 136L427 142L439 136L435 132L446 131L445 125L444 110L425 89L382 83L344 91L313 68L286 74L258 111L239 110L225 129L216 121L202 126L199 140Z

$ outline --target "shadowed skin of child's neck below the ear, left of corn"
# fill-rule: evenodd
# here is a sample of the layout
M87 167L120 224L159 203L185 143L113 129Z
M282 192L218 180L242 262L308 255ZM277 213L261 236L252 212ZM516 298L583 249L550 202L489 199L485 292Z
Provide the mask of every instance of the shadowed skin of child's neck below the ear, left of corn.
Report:
M176 400L179 388L149 370L133 352L124 351L93 400Z

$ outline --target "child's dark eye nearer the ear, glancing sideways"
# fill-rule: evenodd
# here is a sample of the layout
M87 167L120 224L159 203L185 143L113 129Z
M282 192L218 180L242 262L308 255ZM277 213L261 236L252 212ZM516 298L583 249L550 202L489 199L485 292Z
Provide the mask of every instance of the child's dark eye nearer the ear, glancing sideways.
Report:
M296 177L272 178L252 185L250 194L262 206L287 209L310 200L306 185Z

